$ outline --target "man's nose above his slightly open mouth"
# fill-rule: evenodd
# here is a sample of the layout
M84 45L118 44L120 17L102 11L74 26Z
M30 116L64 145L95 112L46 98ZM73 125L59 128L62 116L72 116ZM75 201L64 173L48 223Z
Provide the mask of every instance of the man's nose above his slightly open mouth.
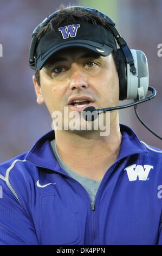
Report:
M85 74L78 67L73 67L72 76L70 77L70 89L75 90L87 87L88 84Z

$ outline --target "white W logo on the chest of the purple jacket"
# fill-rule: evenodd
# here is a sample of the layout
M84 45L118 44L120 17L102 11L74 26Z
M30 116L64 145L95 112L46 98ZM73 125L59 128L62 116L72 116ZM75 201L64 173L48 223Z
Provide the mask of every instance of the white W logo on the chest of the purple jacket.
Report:
M141 165L132 164L132 166L128 166L124 170L127 171L129 181L137 180L147 180L148 174L150 170L153 169L153 166L148 164L144 164L144 167Z

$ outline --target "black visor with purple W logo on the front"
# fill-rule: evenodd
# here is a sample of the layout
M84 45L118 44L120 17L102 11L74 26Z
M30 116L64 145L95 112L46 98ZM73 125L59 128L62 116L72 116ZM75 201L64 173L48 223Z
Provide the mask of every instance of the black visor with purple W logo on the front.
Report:
M49 29L40 39L36 50L36 67L41 70L47 60L57 51L68 47L85 47L102 56L116 51L111 32L100 25L73 21Z

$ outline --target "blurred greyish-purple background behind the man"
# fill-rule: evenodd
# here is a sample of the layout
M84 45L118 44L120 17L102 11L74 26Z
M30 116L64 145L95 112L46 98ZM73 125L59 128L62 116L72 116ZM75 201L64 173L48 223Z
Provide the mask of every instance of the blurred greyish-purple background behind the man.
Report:
M51 130L51 117L45 105L37 105L28 52L34 28L59 5L83 5L103 11L116 22L116 28L132 49L145 52L150 69L150 85L157 96L139 105L141 118L162 136L162 44L161 0L0 0L0 162L29 150L44 133ZM122 103L128 103L122 102ZM156 138L142 126L134 109L120 110L120 123L131 126L139 138L162 148Z

